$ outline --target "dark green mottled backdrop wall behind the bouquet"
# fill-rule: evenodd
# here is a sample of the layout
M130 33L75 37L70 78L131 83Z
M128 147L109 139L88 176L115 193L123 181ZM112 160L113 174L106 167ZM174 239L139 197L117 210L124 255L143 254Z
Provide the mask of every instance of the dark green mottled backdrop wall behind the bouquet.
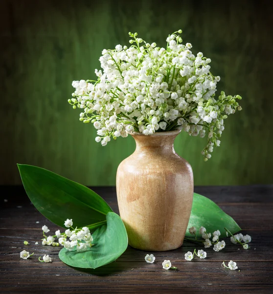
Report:
M243 110L228 118L221 147L207 163L200 154L206 139L186 133L176 139L195 184L272 183L269 3L2 0L0 184L20 184L16 163L25 163L86 185L114 185L117 166L135 142L97 144L95 129L79 122L79 110L67 102L71 82L95 78L102 49L128 45L129 31L165 46L180 28L194 53L211 58L212 73L221 76L218 91L243 97Z

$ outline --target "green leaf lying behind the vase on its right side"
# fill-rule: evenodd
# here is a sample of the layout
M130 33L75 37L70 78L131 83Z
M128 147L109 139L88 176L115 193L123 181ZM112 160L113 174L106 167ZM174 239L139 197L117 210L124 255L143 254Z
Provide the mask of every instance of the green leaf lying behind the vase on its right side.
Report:
M235 234L241 231L236 221L234 221L229 215L227 215L217 204L205 196L194 193L192 209L190 219L186 231L186 237L193 237L188 231L188 228L195 226L197 229L197 236L199 234L199 228L204 226L208 233L213 233L216 230L221 232L222 236L226 236L224 227Z

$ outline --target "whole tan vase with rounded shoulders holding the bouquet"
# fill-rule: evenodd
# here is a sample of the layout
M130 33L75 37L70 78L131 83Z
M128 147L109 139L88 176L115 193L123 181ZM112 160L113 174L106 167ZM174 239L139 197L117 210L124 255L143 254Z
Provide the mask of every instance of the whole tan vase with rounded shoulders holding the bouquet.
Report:
M132 247L166 251L183 243L192 206L193 173L174 150L179 133L131 134L137 147L117 169L116 192Z

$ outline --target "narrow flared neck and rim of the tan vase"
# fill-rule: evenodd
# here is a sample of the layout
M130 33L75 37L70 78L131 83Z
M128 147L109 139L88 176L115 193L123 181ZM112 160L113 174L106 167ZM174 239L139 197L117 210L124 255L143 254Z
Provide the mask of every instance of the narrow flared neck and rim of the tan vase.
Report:
M157 153L175 153L174 140L180 133L180 130L169 132L158 132L152 135L143 135L141 133L131 133L136 141L137 153L157 152Z

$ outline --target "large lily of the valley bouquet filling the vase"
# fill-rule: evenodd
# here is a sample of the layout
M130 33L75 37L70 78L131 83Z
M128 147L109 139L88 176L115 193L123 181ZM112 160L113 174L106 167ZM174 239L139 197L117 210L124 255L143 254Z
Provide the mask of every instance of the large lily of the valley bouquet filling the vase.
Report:
M219 76L210 73L211 60L191 52L191 44L182 45L179 30L167 38L165 48L146 43L129 33L131 47L117 45L104 49L102 70L94 80L73 81L75 88L68 102L80 108L80 121L93 123L96 142L107 145L111 137L127 137L133 131L145 135L183 129L192 136L208 136L202 154L211 157L220 146L224 120L236 109L236 99L224 92L215 98Z

